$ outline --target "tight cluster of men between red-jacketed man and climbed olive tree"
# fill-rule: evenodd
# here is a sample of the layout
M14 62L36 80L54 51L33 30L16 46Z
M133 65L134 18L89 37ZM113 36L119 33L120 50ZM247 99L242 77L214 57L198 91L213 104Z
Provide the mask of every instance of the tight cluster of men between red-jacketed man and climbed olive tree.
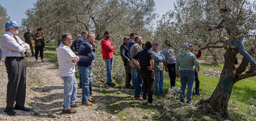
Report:
M192 44L186 43L184 45L187 46L184 46L183 50L186 50L186 52L190 52L186 54L191 54L193 52ZM152 50L150 50L151 48ZM143 43L141 36L138 36L136 33L131 33L130 37L124 37L124 43L120 47L120 56L124 61L124 67L126 70L126 88L133 88L135 90L134 98L136 100L141 100L142 104L148 104L148 106L155 106L156 104L152 103L153 90L154 93L158 96L162 96L164 94L164 70L169 73L171 87L175 86L176 77L180 78L179 70L186 70L191 72L193 71L194 74L191 75L193 79L191 78L189 79L189 81L191 84L193 84L195 80L196 88L194 93L196 95L200 95L200 81L195 66L199 70L199 63L197 62L196 58L199 58L201 56L201 50L199 50L197 54L192 53L193 55L196 55L196 58L193 58L195 60L192 60L192 58L190 60L183 60L182 57L178 56L178 60L176 61L175 52L172 48L171 41L165 41L165 48L162 50L162 52L158 49L158 42L152 43L151 41L148 41L146 43ZM182 60L185 65L181 63ZM182 83L182 97L180 98L180 100L183 100L184 102L184 93L188 80L184 77L183 74L181 75L181 77L184 83ZM130 84L131 80L132 85ZM141 96L141 90L143 85L145 86L143 96ZM193 85L189 85L188 90L188 95L191 93L192 96ZM147 96L148 100L146 100ZM191 100L188 99L188 101Z

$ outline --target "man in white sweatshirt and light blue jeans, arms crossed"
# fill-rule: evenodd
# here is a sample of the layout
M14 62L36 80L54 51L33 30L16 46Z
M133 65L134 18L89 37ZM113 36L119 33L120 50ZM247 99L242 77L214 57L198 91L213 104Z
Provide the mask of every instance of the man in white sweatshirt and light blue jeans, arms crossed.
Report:
M79 60L74 52L69 48L72 45L73 39L70 33L62 35L62 43L56 48L58 51L57 58L59 63L61 79L64 81L63 91L63 110L62 113L76 113L74 107L78 107L76 103L76 75L75 65Z

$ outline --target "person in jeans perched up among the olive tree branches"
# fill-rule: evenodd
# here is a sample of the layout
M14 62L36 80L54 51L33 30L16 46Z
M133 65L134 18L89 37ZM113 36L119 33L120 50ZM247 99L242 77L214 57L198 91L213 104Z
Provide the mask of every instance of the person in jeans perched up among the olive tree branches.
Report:
M225 8L221 8L221 13L224 15L227 15L230 12L230 9L225 7ZM231 33L230 29L228 27L223 26L223 24L227 21L228 19L222 19L221 22L218 25L215 26L206 26L208 29L209 28L215 28L215 29L221 29L221 28L225 28L228 35L231 36L231 34L238 34L237 32L235 33ZM249 69L249 71L246 71L245 73L253 73L256 72L256 64L255 61L253 60L252 56L246 52L244 46L243 46L243 39L244 38L238 38L236 41L234 42L228 42L228 45L232 44L234 46L236 46L238 52L251 64L251 67Z

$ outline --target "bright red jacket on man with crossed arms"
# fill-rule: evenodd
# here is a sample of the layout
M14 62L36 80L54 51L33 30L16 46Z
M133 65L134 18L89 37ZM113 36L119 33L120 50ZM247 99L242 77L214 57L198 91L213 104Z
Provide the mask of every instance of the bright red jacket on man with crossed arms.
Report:
M105 38L101 40L101 50L103 60L114 58L113 51L115 51L115 47L110 40L107 40Z

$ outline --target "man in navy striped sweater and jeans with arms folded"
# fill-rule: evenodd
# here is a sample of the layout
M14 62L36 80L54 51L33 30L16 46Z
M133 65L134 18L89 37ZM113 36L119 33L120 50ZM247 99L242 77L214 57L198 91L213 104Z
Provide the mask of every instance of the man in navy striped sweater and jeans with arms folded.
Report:
M94 100L89 99L89 73L91 70L91 63L95 59L95 36L93 34L87 35L87 40L82 42L79 48L78 69L82 77L82 105L92 106Z

